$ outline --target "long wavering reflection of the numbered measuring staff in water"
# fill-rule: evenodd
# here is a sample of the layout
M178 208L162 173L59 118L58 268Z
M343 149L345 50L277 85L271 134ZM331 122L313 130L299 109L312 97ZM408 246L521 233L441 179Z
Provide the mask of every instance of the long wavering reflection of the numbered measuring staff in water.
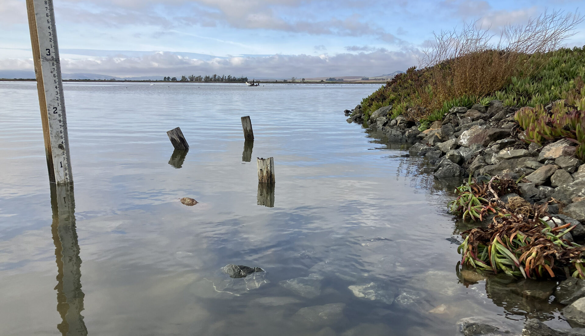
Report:
M73 184L51 183L51 233L57 261L57 311L63 321L57 329L64 336L86 336L81 316L84 293L81 291L81 258L75 229Z

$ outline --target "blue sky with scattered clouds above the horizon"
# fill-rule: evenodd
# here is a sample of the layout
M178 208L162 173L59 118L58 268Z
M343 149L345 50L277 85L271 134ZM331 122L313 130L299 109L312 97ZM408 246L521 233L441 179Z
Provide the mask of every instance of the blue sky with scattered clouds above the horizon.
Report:
M498 33L582 1L54 0L64 73L377 76L418 65L433 31ZM585 45L585 23L567 46ZM25 0L0 1L0 71L32 70Z

